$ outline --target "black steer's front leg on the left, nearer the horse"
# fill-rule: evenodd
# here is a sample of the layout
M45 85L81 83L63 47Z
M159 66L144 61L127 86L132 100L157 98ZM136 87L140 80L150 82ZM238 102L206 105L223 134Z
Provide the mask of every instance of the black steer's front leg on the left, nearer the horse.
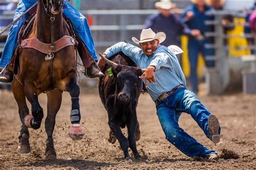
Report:
M109 113L110 129L112 130L112 132L114 133L114 136L116 136L117 140L119 141L120 147L122 148L122 150L124 152L124 159L129 159L129 152L128 152L129 141L122 133L117 121L114 121L114 119L110 117L110 114L111 113Z

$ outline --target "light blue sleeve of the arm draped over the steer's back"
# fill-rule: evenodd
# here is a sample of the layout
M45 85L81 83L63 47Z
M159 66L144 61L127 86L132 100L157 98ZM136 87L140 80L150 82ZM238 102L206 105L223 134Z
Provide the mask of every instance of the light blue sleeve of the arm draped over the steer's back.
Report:
M134 62L138 63L138 56L142 52L142 49L126 42L118 42L117 44L107 48L104 54L106 54L107 58L110 58L112 55L118 52L123 52L125 55L129 56Z

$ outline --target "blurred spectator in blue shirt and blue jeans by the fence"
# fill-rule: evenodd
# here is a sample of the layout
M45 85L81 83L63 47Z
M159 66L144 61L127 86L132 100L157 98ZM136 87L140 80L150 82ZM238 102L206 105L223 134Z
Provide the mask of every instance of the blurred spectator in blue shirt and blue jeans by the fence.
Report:
M183 22L190 29L196 29L201 32L197 37L188 37L188 59L190 61L190 88L194 93L198 93L197 62L198 53L203 54L206 67L213 68L214 60L206 59L206 56L213 56L213 48L205 48L205 44L213 44L212 38L204 37L205 32L213 31L213 27L205 25L205 20L213 20L212 16L207 16L206 11L214 10L206 5L204 0L192 0L193 4L187 6L183 15Z

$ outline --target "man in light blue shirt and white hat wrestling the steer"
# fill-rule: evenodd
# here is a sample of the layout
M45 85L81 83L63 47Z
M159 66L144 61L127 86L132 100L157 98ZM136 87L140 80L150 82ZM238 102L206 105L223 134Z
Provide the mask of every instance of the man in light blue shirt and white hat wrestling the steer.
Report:
M198 143L178 125L181 112L187 112L198 123L207 138L215 144L220 140L218 119L211 115L197 96L185 87L185 76L176 56L167 47L160 45L165 38L164 32L156 34L151 29L145 29L140 34L140 40L132 37L133 42L139 44L142 49L126 42L119 42L107 48L103 56L107 58L123 52L136 62L138 67L146 69L139 78L143 79L147 91L156 103L157 115L166 139L188 157L203 157L215 161L218 159L216 151ZM102 68L104 65L104 61L99 59L98 66Z

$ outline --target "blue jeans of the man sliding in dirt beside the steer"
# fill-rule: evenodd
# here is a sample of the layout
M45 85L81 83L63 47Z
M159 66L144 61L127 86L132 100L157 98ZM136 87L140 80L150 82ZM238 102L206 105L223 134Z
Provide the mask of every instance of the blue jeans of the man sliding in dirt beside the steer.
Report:
M173 94L166 97L156 105L157 116L166 139L170 141L181 152L188 157L207 158L209 154L216 153L209 150L196 139L189 136L179 127L178 121L181 112L190 114L198 123L199 127L209 138L208 116L211 114L204 105L198 100L197 96L187 88L179 88Z

